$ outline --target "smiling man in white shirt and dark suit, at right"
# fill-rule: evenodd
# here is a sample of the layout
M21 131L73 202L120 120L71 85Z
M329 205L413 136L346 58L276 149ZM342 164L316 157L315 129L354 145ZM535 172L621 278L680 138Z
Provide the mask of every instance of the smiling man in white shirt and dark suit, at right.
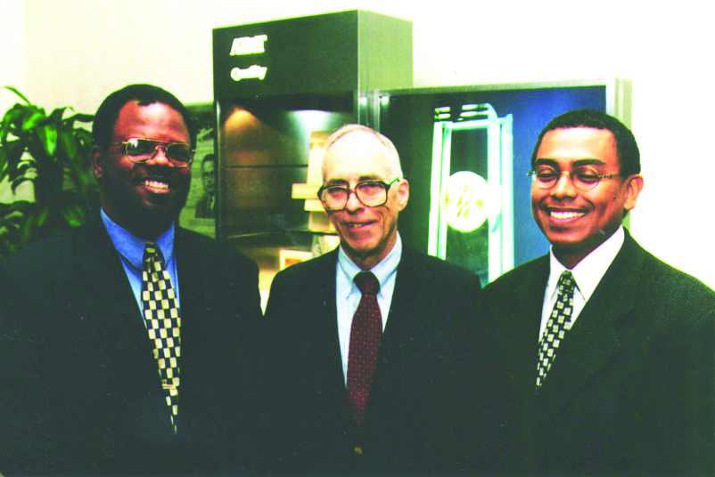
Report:
M715 294L622 227L644 183L633 134L599 111L567 112L542 131L531 166L551 250L481 295L482 349L496 347L500 369L492 428L505 431L495 439L509 463L712 474Z

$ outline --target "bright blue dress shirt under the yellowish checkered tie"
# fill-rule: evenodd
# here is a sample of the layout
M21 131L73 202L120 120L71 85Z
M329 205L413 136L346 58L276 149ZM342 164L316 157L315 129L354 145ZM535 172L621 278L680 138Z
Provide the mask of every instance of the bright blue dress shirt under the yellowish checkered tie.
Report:
M129 230L121 227L116 222L112 222L107 214L102 209L102 222L104 228L110 236L111 243L119 252L121 264L124 265L124 271L127 273L129 285L132 287L132 292L136 299L136 305L139 307L139 313L144 318L142 311L142 270L144 265L144 240L139 239ZM174 287L174 292L177 294L177 304L179 302L179 289L177 280L177 261L174 260L174 224L167 231L162 233L155 241L159 246L161 254L164 255L164 264L167 267L169 276L171 277L171 285Z

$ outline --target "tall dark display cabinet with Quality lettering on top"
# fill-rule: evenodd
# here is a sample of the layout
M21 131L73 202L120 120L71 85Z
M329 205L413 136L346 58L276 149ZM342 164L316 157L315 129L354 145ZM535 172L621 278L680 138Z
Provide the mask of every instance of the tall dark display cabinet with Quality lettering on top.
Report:
M275 272L336 241L316 204L320 145L374 125L368 92L412 86L412 25L338 12L213 32L217 235Z

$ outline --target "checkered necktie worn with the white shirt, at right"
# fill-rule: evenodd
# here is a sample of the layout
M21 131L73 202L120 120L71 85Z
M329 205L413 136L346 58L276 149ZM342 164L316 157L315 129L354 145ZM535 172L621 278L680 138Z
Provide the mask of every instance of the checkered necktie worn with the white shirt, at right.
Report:
M548 370L556 359L556 350L563 341L563 336L571 329L571 313L573 312L573 289L576 281L571 271L563 271L557 284L556 303L554 311L548 317L547 327L541 341L538 343L537 391L544 384Z

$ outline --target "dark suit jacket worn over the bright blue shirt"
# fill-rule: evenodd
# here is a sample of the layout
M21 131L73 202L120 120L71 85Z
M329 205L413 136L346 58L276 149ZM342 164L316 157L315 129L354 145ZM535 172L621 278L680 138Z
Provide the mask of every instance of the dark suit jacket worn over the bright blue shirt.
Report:
M181 228L175 255L177 436L141 312L98 217L0 263L0 472L225 472L229 453L233 470L247 465L258 269Z

